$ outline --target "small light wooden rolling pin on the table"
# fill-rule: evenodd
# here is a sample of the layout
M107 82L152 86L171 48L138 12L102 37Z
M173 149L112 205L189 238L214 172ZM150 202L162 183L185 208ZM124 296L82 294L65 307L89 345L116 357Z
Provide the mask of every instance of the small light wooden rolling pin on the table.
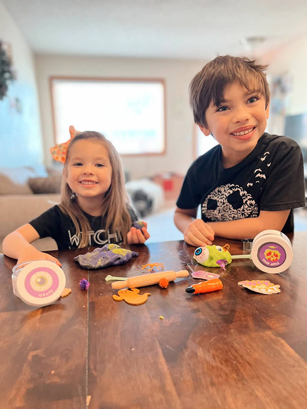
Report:
M174 281L178 277L188 276L189 272L187 270L153 272L152 274L143 274L142 276L129 277L125 281L116 281L115 283L112 283L112 288L114 290L125 287L139 288L145 287L146 285L158 284L162 278L166 278L168 281Z

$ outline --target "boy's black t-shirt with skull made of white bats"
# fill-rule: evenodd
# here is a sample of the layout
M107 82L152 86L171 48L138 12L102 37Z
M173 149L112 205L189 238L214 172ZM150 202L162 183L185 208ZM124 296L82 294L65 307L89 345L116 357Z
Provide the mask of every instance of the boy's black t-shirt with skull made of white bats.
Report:
M217 145L193 162L177 206L194 209L201 205L205 222L291 209L282 232L293 232L292 209L305 205L303 158L297 143L265 132L237 165L225 169L221 155L222 147Z

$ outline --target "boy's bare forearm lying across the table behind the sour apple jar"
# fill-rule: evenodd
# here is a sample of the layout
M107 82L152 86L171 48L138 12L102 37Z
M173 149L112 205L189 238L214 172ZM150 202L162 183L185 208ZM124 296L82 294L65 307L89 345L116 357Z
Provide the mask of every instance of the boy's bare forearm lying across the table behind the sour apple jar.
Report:
M232 221L210 221L206 224L214 229L215 235L227 239L253 239L264 230L281 231L286 223L290 210L264 211L258 217Z

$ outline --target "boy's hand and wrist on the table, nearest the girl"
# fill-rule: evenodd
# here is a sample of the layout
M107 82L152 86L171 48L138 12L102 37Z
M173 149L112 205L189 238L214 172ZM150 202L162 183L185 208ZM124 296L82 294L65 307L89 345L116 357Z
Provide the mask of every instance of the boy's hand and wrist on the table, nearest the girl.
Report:
M191 246L211 245L214 240L214 228L202 219L196 219L197 209L176 208L174 223L184 234L185 242Z

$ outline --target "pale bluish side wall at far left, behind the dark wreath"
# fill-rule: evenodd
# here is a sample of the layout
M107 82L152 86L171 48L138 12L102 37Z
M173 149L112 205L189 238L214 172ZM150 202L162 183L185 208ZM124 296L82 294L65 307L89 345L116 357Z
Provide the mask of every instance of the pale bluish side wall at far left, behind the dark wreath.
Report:
M43 148L34 58L1 2L0 39L11 45L17 76L7 96L0 101L0 167L36 165L43 161ZM20 112L14 106L16 98L20 101Z

